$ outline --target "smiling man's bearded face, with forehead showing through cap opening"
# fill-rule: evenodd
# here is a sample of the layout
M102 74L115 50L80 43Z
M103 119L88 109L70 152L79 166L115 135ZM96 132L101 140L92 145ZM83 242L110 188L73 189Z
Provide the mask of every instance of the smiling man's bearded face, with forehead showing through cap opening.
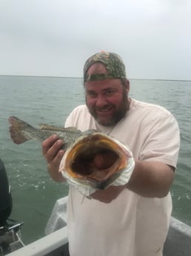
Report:
M107 73L107 70L101 63L96 63L89 68L87 73ZM115 125L125 116L129 108L128 81L125 85L121 84L120 79L89 81L85 82L84 87L87 108L99 124Z

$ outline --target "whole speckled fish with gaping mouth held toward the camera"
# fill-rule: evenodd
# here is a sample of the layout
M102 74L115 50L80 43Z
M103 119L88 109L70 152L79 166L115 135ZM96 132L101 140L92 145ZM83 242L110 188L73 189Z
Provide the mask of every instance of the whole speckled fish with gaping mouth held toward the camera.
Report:
M85 197L91 198L98 189L121 186L130 180L135 165L130 148L102 131L47 124L36 128L16 116L10 116L9 122L10 137L16 144L28 140L43 142L57 134L64 141L65 151L58 171Z

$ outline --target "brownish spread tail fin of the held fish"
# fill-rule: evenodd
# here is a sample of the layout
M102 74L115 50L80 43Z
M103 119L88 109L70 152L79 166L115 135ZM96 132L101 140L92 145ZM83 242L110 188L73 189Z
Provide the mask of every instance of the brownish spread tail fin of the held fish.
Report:
M27 122L22 121L16 116L10 116L10 137L16 144L21 144L27 140L30 140L30 137L25 136L24 130L30 125Z

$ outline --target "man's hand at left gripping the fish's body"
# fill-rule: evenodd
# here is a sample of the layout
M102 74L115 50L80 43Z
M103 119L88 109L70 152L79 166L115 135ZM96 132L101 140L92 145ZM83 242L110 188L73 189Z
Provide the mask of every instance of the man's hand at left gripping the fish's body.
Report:
M64 177L58 172L59 165L61 163L61 158L64 156L63 147L64 142L59 140L56 134L47 138L42 142L42 154L47 161L47 170L53 180L61 182L64 181Z

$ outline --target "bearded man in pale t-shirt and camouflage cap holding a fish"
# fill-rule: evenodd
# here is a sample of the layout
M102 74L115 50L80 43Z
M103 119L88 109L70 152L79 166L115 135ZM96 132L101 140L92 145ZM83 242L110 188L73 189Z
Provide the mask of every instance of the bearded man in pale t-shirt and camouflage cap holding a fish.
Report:
M115 53L96 53L84 65L86 105L66 126L104 131L130 146L135 168L125 186L110 186L89 200L70 186L67 227L71 256L161 256L170 225L170 186L180 145L178 124L166 109L129 97L124 63ZM42 143L48 171L62 181L64 151L56 135ZM104 166L107 155L95 157Z

